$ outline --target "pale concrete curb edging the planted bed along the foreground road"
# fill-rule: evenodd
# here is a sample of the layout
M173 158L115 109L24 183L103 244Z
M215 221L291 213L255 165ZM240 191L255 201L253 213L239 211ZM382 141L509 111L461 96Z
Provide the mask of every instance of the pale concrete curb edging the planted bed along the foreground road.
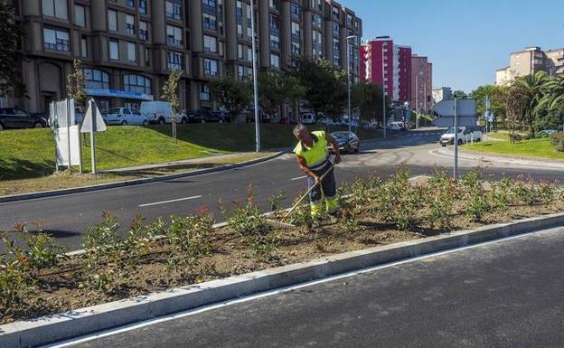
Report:
M0 348L32 347L437 251L564 225L564 213L461 230L0 325Z

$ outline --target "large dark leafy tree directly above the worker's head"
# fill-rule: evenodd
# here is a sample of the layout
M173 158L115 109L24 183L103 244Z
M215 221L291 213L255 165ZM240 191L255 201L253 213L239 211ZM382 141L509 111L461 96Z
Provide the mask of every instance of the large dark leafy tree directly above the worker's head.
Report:
M294 76L305 87L305 99L315 114L324 112L332 118L341 117L347 101L346 71L324 59L296 57L293 63Z

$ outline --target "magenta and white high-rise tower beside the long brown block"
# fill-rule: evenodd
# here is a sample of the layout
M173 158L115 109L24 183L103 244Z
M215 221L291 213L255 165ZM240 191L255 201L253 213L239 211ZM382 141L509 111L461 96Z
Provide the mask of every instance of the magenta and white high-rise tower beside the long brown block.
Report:
M411 47L394 44L389 36L362 43L362 80L385 87L395 103L409 101L411 96Z

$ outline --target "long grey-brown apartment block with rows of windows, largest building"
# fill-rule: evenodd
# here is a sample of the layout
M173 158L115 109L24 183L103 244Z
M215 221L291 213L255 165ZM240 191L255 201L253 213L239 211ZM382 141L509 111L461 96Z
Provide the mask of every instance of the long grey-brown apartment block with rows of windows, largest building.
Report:
M252 73L251 15L258 69L286 71L291 57L326 58L360 76L362 21L331 0L14 0L23 29L23 80L30 112L63 99L72 61L85 89L106 110L160 99L182 70L181 107L217 108L210 82ZM347 42L354 35L356 41ZM348 54L347 54L348 53Z

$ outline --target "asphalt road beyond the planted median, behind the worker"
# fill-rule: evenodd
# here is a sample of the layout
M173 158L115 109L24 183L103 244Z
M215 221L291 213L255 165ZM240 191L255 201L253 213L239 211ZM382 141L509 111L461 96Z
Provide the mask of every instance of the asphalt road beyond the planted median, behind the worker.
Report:
M337 180L351 181L368 174L388 176L399 165L408 165L414 176L431 174L436 165L451 167L450 159L430 154L431 150L437 149L439 135L438 130L409 131L388 140L363 144L360 155L343 157L343 164L336 169ZM476 165L479 164L461 160L461 172ZM491 165L485 169L485 174L502 173L532 174L536 179L564 179L564 172L540 168ZM159 216L195 213L202 206L210 208L216 220L222 221L217 210L218 199L221 198L228 206L235 200L244 199L249 183L256 202L265 212L269 211L268 198L280 191L293 198L305 188L304 174L298 170L295 157L284 155L266 163L215 174L0 203L0 230L14 230L14 222L25 222L33 230L34 221L41 221L42 229L52 233L59 244L80 249L83 231L100 221L103 210L117 216L124 229L136 212L142 213L150 222ZM284 202L287 206L291 198Z

